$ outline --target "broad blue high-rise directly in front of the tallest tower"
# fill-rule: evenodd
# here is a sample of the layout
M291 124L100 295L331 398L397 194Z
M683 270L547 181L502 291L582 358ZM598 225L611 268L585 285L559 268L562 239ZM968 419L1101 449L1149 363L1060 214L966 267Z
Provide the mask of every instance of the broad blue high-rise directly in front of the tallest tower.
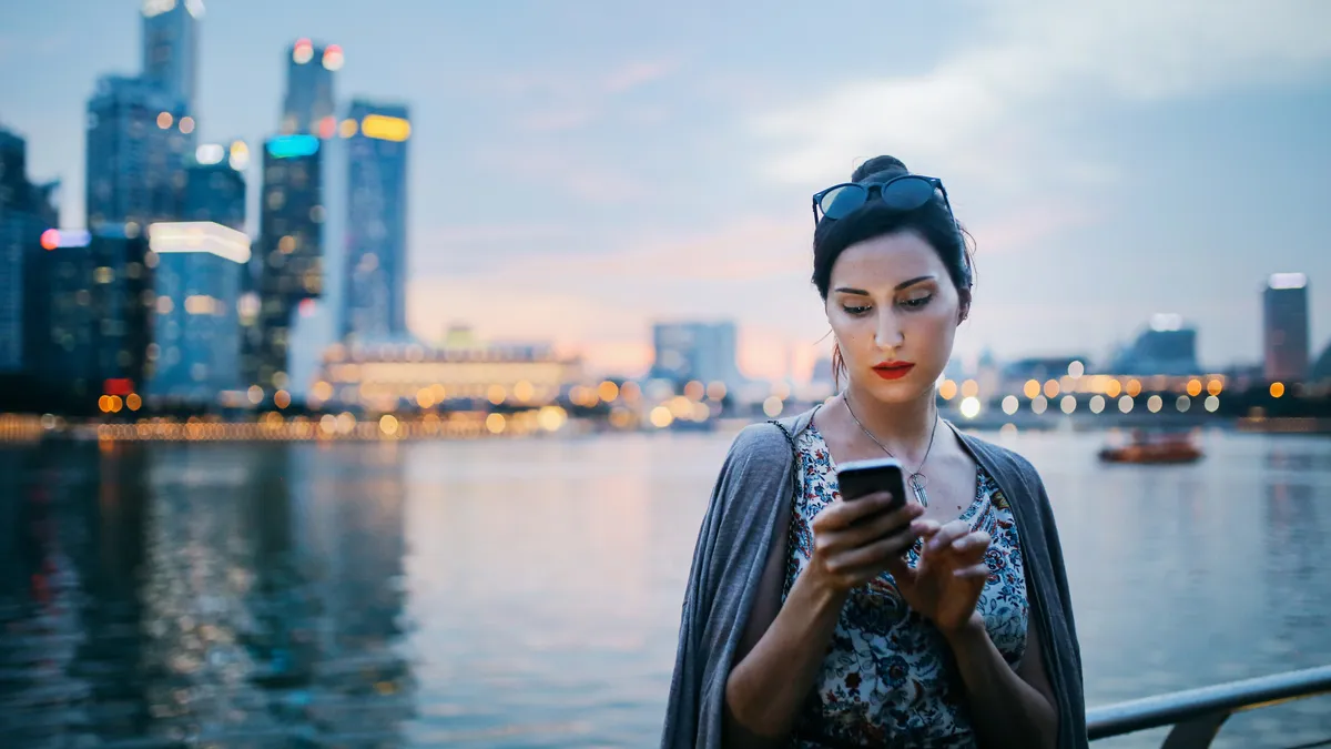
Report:
M88 101L88 227L174 220L193 131L185 104L154 83L100 79Z

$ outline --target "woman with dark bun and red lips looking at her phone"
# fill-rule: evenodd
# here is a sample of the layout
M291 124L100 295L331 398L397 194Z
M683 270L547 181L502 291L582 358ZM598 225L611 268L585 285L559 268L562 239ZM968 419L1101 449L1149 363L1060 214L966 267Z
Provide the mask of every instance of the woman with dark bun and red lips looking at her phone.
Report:
M813 196L813 284L845 389L735 440L703 520L662 745L1086 745L1053 513L1022 457L940 418L970 311L942 183L880 156ZM908 502L843 502L892 456Z

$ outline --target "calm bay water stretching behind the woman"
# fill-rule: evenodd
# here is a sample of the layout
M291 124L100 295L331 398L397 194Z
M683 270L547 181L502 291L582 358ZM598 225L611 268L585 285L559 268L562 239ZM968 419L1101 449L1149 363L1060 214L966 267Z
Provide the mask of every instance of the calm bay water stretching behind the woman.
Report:
M0 736L651 746L728 441L0 449ZM1000 441L1053 497L1090 705L1331 664L1331 441L1213 432L1169 468ZM1215 745L1326 738L1331 698Z

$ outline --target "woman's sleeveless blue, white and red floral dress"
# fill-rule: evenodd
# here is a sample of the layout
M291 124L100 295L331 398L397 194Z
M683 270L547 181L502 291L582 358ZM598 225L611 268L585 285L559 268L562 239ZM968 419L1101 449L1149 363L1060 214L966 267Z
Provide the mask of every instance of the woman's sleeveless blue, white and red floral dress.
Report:
M809 426L797 446L801 490L792 513L783 601L809 564L813 517L841 501L823 434ZM1026 577L1012 508L984 468L977 470L974 501L961 518L993 538L985 556L989 580L977 610L1004 660L1016 666L1026 646L1030 613ZM918 564L918 552L920 542L906 553L909 566ZM976 745L948 642L901 600L890 573L851 592L795 737L801 749Z

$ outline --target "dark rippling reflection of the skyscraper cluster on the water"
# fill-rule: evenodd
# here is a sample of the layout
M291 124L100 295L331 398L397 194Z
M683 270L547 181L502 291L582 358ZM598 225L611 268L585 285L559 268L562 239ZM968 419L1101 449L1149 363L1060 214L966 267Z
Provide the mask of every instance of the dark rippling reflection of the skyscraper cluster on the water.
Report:
M0 456L0 714L17 745L402 742L397 461L307 445Z

